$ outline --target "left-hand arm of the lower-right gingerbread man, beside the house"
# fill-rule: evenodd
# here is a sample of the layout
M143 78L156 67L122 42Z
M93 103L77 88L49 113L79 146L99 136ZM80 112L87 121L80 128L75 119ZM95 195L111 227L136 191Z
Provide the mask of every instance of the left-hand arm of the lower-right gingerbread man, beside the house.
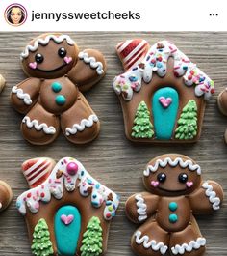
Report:
M159 196L148 192L132 195L125 204L126 215L134 223L144 222L158 208Z

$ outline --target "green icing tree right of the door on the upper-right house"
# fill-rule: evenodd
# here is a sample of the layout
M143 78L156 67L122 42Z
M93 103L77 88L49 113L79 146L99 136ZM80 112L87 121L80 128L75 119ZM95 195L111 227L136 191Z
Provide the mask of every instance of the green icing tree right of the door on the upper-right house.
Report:
M197 135L197 105L195 100L189 100L183 108L177 124L176 139L193 139Z

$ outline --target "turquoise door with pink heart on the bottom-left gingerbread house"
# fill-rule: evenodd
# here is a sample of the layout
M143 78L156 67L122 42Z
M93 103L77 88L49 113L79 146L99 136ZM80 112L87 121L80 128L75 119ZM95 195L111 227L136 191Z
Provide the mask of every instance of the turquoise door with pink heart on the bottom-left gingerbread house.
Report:
M63 206L55 215L55 238L58 253L63 256L76 254L81 231L81 214L74 206Z

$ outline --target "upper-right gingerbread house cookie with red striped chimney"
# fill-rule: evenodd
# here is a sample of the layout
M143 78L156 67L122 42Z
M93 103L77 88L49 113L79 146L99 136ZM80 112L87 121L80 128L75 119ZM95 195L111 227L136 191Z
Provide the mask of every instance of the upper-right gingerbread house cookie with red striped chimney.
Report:
M127 40L116 46L125 72L114 79L125 133L135 142L199 139L214 82L173 43Z

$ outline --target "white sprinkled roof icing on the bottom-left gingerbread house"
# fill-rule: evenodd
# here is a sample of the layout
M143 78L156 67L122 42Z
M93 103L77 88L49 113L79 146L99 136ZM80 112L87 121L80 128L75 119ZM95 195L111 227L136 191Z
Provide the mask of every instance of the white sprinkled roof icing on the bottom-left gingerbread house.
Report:
M67 164L72 162L77 164L78 170L75 174L69 175L67 173ZM59 176L59 178L57 178L58 172L62 173L62 176ZM22 193L17 198L16 207L18 211L25 215L28 207L31 213L38 213L40 208L39 202L48 203L51 200L51 196L54 196L56 199L63 197L63 185L67 191L79 189L82 196L90 196L90 202L95 208L100 208L105 203L103 210L104 218L110 220L114 217L119 204L119 197L114 191L93 179L78 160L70 157L61 159L52 170L48 179L41 185Z

